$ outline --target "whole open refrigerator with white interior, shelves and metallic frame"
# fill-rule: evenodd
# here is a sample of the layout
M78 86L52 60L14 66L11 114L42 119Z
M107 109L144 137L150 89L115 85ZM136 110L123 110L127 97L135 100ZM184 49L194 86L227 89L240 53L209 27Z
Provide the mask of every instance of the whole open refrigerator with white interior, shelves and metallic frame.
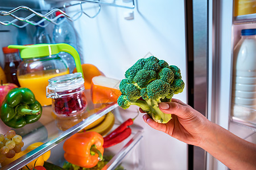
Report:
M1 0L0 4L1 12L14 10L11 14L34 21L28 24L6 12L0 13L0 36L6 40L0 42L1 47L17 44L24 28L26 40L32 42L35 21L41 17L35 16L36 12L46 15L43 16L48 19L44 20L45 28L51 35L55 18L49 12L63 10L75 28L82 63L92 63L105 76L121 80L125 71L140 58L164 59L180 68L185 82L184 91L175 98L191 105L210 121L255 143L255 126L248 128L234 122L231 115L233 1ZM20 6L33 11L16 8ZM253 27L251 23L249 25ZM243 26L241 24L241 28ZM0 53L1 67L3 62ZM89 92L86 97L89 100ZM123 110L115 103L109 104L103 111L64 132L56 128L51 108L45 108L46 117L34 127L28 126L27 131L19 131L26 134L27 146L36 141L46 142L45 145L3 169L23 167L48 150L52 152L49 161L61 165L64 162L63 141L109 111L115 114L115 127L127 118L135 117L138 107ZM108 169L114 169L119 163L126 169L228 169L203 149L150 128L142 115L140 113L131 126L133 135L106 151L114 156ZM9 129L0 125L0 133Z

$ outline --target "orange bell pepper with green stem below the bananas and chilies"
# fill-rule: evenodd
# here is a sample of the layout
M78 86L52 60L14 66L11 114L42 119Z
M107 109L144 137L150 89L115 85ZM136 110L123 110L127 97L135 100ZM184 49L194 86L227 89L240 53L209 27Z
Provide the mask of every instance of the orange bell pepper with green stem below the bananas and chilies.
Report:
M72 135L64 142L64 158L67 162L84 168L92 168L102 160L104 139L96 131L85 131Z

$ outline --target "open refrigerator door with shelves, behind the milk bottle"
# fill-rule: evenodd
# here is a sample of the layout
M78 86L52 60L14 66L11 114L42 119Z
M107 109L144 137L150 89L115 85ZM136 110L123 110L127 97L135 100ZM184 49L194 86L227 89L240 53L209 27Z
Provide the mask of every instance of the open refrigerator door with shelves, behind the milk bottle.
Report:
M234 49L241 39L242 29L256 28L255 4L255 1L209 1L208 16L208 119L253 143L256 142L255 108L243 107L242 111L249 110L253 118L236 114L240 111L233 91L236 89L237 59ZM209 154L206 167L228 169Z

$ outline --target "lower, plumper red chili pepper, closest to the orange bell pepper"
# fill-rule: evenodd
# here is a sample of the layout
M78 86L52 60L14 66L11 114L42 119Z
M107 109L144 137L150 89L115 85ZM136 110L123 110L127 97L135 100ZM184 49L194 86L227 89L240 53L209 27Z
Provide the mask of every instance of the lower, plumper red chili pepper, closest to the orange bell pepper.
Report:
M127 137L129 137L130 134L131 134L131 128L126 127L126 129L124 129L118 135L115 135L115 137L109 139L108 141L104 141L103 147L107 148L107 147L110 147L110 146L117 145L118 143L122 142Z

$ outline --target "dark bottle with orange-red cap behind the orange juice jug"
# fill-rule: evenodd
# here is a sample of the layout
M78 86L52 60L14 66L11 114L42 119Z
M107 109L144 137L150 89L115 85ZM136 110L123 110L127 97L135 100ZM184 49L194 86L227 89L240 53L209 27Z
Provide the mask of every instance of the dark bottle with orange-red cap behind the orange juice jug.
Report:
M7 46L3 47L2 49L3 54L5 54L5 67L3 70L5 71L7 82L14 83L20 87L16 75L19 63L22 61L19 56L19 50L9 49Z

